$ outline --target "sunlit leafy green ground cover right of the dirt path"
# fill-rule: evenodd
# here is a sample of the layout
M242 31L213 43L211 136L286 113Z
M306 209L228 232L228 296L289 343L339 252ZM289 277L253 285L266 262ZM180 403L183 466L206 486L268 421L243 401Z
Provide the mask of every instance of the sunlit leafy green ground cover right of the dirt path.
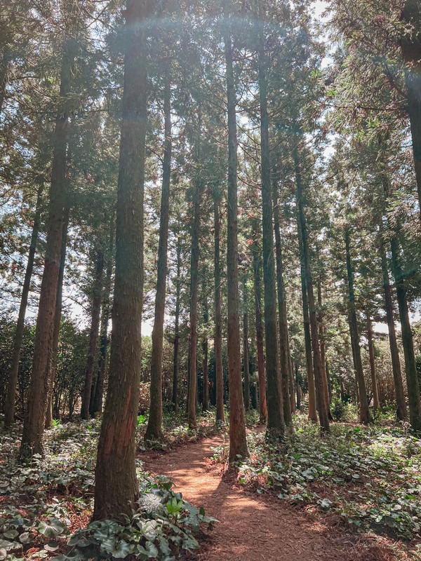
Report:
M333 424L330 434L302 414L281 445L248 433L250 458L239 460L241 485L281 500L335 513L347 525L420 541L421 442L408 426ZM225 461L225 446L213 461Z

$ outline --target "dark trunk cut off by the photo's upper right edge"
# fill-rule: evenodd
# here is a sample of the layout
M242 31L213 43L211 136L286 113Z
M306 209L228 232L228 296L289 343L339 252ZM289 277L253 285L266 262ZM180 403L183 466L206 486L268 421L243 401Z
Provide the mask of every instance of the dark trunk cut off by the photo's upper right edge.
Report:
M406 62L405 81L408 95L408 115L413 140L413 157L417 181L418 204L421 212L421 13L417 0L406 0L401 20L410 31L401 38L403 60Z

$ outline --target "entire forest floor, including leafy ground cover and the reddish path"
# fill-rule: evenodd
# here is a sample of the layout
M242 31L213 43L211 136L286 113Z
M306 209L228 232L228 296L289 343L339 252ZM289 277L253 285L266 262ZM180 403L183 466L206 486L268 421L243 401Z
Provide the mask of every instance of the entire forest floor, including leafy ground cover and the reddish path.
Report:
M336 422L322 436L297 414L274 442L249 415L250 456L229 471L212 412L194 431L171 421L157 451L138 419L141 495L124 525L90 523L100 419L56 422L31 464L16 459L22 427L0 426L0 561L421 561L421 440L406 426Z

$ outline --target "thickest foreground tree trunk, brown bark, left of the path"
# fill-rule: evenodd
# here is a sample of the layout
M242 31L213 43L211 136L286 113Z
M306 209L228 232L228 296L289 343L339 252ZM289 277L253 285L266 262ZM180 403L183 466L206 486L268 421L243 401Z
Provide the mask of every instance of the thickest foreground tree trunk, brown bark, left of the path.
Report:
M128 0L116 213L116 272L107 399L95 468L94 520L132 515L143 306L143 195L147 128L145 1ZM148 6L149 8L149 6Z

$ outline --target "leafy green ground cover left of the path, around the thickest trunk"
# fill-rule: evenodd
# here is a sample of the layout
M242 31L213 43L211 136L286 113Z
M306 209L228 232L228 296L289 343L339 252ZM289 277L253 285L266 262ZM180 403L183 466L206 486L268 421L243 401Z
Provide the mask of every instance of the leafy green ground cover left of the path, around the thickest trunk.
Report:
M169 561L198 548L195 535L213 524L202 510L152 478L138 461L140 501L133 517L90 522L100 421L55 424L46 455L18 464L18 428L0 435L0 560ZM135 557L134 557L135 556Z

